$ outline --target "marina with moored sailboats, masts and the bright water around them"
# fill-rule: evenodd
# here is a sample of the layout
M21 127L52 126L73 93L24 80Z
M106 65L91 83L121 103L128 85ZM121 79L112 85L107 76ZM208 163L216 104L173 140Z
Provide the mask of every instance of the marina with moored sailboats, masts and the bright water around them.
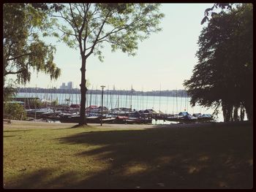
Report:
M130 91L131 92L131 91ZM118 92L117 92L118 93ZM86 96L87 123L118 124L170 124L217 121L213 110L200 106L190 107L189 97L148 96L129 93L110 94L105 91L103 107L101 95ZM78 93L18 93L29 120L78 123L80 119L80 94Z

